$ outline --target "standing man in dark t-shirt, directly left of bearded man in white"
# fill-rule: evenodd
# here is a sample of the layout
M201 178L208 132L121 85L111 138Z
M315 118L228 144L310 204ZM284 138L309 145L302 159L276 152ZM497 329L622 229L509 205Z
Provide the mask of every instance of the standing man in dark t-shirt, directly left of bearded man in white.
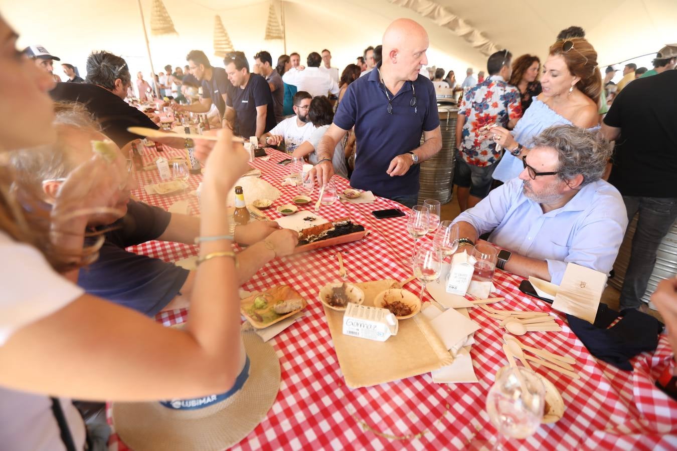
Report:
M268 83L259 74L249 72L249 63L244 53L233 51L223 60L225 72L234 86L228 96L226 120L234 127L235 133L244 138L256 136L276 126L275 107Z

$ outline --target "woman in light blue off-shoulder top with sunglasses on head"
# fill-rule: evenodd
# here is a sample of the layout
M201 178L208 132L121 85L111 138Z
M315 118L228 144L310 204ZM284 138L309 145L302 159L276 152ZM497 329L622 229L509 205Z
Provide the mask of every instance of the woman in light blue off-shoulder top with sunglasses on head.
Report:
M497 126L481 136L493 139L506 150L494 171L496 180L507 182L522 172L522 157L529 153L529 141L549 126L599 126L597 103L602 76L597 68L597 52L588 41L571 38L551 45L543 64L541 86L542 93L533 99L514 130Z

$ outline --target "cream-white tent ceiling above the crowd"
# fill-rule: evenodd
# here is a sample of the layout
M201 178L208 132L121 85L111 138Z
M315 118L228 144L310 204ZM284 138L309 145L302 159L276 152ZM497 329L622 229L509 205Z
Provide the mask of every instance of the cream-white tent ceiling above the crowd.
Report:
M400 6L395 3L403 3ZM462 18L498 47L514 55L546 55L559 30L582 26L598 51L600 66L655 52L665 43L677 41L676 0L302 0L284 2L286 52L303 57L326 47L334 65L354 62L367 45L380 42L383 30L393 19L417 20L429 32L431 65L464 72L485 66L486 56L466 39L435 20L422 16L416 7L436 3ZM146 22L151 0L142 0ZM274 57L284 52L282 41L264 41L270 1L264 0L164 0L179 32L177 38L152 39L156 70L168 62L183 65L183 55L192 48L211 53L215 14L223 18L234 46L251 57L267 49ZM274 2L278 7L280 1ZM41 11L35 14L35 11ZM74 0L68 6L51 0L20 2L0 0L0 14L22 35L20 45L42 43L62 60L84 66L92 49L108 49L127 57L134 69L145 70L145 50L135 0L115 3ZM219 59L214 59L219 63ZM144 66L141 68L140 66Z

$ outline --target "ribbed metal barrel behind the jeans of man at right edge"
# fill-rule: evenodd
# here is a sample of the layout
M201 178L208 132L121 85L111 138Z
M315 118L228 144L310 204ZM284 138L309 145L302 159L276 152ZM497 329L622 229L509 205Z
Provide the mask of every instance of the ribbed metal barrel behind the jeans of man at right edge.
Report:
M618 256L616 261L613 264L613 272L615 275L613 279L609 279L609 285L616 289L621 289L623 287L623 281L625 280L626 270L628 270L628 262L630 262L630 249L632 248L632 237L637 227L637 217L630 222L628 225L628 230L626 231L626 237L621 244L621 248L618 251ZM677 274L677 222L672 224L672 227L668 231L668 234L663 237L663 241L658 246L658 252L656 253L656 264L653 266L653 272L651 272L651 277L649 277L649 285L647 285L647 291L644 293L642 300L649 302L651 294L656 289L656 285L663 279L668 279L674 277Z

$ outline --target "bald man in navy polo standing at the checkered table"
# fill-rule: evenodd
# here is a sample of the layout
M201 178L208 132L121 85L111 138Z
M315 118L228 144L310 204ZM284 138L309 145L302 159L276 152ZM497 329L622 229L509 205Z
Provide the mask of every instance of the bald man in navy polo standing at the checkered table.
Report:
M334 174L334 148L354 126L357 148L351 186L408 207L416 205L418 163L442 147L435 87L419 73L428 64L428 45L428 34L413 20L397 19L388 26L383 60L376 70L351 83L318 145L314 172L320 185Z

